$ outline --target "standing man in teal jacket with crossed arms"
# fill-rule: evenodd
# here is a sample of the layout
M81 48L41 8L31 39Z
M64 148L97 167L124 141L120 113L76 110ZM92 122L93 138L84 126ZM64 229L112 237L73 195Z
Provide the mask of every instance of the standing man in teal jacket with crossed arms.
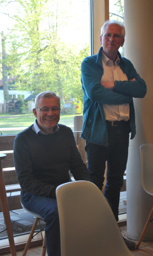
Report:
M131 61L121 57L118 51L124 44L124 37L124 26L116 20L107 20L101 28L102 47L98 54L86 57L81 65L84 93L81 137L86 139L88 169L101 190L107 161L104 195L112 203L116 221L129 133L131 139L136 134L133 97L143 98L146 94L145 81Z

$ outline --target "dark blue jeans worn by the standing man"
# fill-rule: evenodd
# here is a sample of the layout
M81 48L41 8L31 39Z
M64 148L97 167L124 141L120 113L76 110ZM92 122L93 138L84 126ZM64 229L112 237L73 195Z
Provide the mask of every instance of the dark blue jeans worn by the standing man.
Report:
M104 185L104 174L107 161L107 181L104 196L110 201L116 221L120 188L123 185L123 174L126 169L129 148L129 122L121 126L107 123L108 145L101 146L86 141L88 170L91 179L101 190Z

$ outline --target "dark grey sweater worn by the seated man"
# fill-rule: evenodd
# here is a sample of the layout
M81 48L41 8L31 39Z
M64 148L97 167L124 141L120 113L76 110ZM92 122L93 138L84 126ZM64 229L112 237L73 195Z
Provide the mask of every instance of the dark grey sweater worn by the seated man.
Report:
M14 141L14 164L23 193L56 198L56 187L70 181L89 180L71 129L58 124L59 130L50 135L38 135L28 129Z

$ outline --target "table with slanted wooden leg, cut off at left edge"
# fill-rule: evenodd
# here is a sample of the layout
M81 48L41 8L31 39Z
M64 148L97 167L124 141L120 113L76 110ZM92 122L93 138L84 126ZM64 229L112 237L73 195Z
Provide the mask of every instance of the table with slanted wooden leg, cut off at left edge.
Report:
M2 165L1 165L1 160L4 158L6 158L6 155L0 154L0 201L1 201L1 206L2 206L2 210L3 210L5 225L7 228L11 254L12 254L12 256L16 256L14 237L13 237L13 232L12 232L12 227L11 227L10 212L9 212L5 183L4 183L4 178L3 178L3 170L2 170Z

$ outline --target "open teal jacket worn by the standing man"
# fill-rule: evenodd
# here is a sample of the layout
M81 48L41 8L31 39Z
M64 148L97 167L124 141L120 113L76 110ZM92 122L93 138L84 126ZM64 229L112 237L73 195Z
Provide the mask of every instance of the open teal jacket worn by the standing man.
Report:
M130 60L121 57L119 66L126 74L128 81L115 81L114 89L101 86L104 69L102 65L103 47L98 54L86 57L81 65L81 82L84 93L83 129L81 137L91 143L107 145L108 135L103 103L130 104L131 139L136 135L134 98L143 98L146 94L146 83L136 72ZM135 78L136 81L130 81Z

